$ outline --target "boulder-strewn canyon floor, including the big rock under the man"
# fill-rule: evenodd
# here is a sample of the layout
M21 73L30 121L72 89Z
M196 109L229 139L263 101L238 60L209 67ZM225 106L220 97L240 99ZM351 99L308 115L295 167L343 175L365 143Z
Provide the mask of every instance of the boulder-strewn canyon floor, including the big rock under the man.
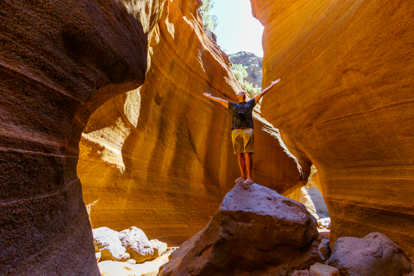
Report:
M137 227L93 234L101 276L413 276L413 258L385 235L331 246L330 223L301 202L239 182L179 248L148 240Z

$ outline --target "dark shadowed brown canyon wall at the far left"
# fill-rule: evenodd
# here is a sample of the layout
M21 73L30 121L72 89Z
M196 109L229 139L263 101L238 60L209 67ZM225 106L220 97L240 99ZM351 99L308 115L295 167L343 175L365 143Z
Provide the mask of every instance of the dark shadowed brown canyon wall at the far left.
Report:
M1 2L0 274L99 275L78 143L94 110L143 84L163 2Z

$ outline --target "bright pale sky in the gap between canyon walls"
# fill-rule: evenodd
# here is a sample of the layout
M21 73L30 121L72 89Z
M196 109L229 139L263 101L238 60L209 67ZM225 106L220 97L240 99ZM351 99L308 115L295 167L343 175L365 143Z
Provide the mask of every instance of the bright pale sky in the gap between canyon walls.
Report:
M211 14L218 17L214 33L226 54L244 51L263 57L263 26L252 16L250 0L215 0Z

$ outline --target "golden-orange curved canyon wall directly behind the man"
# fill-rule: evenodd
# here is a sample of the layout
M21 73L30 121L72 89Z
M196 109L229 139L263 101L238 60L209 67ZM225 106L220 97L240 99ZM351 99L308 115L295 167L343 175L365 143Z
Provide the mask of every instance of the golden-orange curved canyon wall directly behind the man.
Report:
M200 1L167 1L151 39L145 84L91 116L77 173L93 228L142 229L180 245L200 231L240 176L231 113L203 96L236 101L241 87L203 30ZM308 172L255 109L253 180L281 194Z

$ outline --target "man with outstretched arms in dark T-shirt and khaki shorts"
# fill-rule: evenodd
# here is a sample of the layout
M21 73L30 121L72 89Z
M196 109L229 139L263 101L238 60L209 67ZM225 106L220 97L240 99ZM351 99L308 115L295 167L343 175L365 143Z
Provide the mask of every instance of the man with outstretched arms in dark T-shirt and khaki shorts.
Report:
M213 97L210 93L203 93L206 97L213 101L219 102L226 108L233 112L233 131L231 132L231 140L233 141L234 154L238 154L239 166L242 171L242 176L235 180L235 182L245 181L245 184L252 184L251 179L251 168L253 160L251 155L254 153L253 141L254 141L254 130L253 130L253 117L252 110L254 106L259 102L263 95L268 92L275 84L280 82L281 79L272 81L272 84L260 92L256 97L246 102L245 92L239 92L237 95L238 103L229 103L226 100ZM246 178L247 168L247 178Z

